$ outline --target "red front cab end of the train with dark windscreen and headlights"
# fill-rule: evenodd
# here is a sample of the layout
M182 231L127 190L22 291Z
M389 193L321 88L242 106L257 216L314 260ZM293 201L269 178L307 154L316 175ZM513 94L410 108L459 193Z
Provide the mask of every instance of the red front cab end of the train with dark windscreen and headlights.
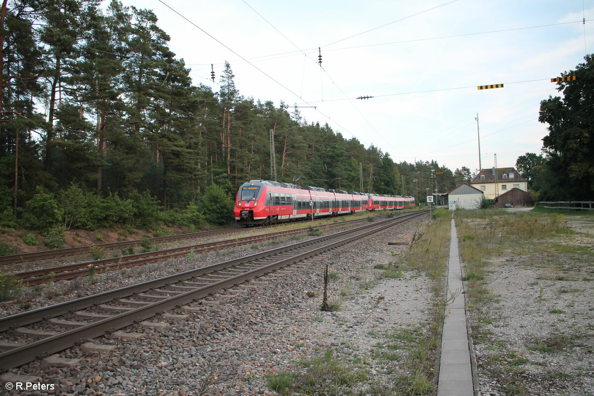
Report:
M246 226L263 224L267 220L266 188L262 180L251 180L239 187L233 208L235 220Z

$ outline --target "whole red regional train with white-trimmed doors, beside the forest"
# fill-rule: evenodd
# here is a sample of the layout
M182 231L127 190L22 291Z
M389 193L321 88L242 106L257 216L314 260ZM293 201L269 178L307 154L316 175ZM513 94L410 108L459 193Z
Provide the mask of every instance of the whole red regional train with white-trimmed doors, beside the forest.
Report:
M241 224L273 224L414 205L413 197L326 191L311 186L301 188L292 183L250 180L239 188L233 214Z

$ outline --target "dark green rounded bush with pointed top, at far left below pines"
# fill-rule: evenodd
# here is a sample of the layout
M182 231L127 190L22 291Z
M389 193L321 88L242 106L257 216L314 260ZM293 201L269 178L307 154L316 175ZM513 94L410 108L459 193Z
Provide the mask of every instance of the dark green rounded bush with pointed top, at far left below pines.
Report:
M47 230L61 223L62 212L53 193L46 194L37 186L37 194L23 208L23 224L30 229Z

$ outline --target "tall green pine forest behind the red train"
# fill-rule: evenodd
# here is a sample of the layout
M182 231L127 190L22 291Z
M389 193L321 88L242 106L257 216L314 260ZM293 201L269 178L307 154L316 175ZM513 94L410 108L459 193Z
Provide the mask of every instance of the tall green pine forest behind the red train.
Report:
M224 212L241 183L271 179L270 129L283 182L419 200L470 178L244 97L228 63L218 92L192 84L147 9L4 0L0 34L0 226L224 223L230 210L205 207Z

